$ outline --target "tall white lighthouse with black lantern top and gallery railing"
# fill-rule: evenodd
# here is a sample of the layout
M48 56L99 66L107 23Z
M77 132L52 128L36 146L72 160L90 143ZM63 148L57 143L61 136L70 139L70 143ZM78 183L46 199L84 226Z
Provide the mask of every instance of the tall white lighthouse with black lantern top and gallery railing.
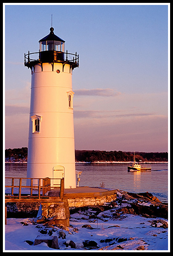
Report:
M31 70L27 178L64 178L76 187L72 71L79 55L65 51L65 41L50 33L39 40L39 52L24 55Z

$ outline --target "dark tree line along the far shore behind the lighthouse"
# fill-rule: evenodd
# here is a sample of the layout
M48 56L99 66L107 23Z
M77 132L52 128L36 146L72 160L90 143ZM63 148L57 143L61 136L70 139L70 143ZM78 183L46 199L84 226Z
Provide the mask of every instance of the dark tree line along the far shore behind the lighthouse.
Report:
M5 149L5 161L27 161L28 148ZM75 150L75 161L133 161L134 152ZM135 152L136 161L167 162L168 152Z

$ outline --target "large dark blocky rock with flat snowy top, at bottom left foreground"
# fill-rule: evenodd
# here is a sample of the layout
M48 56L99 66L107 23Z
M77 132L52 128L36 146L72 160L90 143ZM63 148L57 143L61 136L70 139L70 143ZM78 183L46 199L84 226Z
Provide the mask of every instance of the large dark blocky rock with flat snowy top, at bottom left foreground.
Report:
M42 242L46 243L49 248L58 249L58 237L57 236L46 236L38 235L35 238L34 245L41 244Z

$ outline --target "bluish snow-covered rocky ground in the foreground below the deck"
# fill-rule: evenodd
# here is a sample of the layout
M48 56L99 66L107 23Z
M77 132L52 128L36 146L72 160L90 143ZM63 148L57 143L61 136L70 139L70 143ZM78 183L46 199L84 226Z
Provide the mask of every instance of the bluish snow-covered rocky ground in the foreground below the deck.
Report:
M70 227L66 229L37 224L37 218L7 218L5 252L57 250L49 248L46 243L29 245L25 242L26 240L34 242L37 235L41 235L40 230L46 230L47 233L52 230L51 235L58 237L58 251L62 252L74 250L128 252L137 249L146 250L145 252L168 252L168 229L161 228L161 223L153 223L153 220L161 218L144 218L131 214L122 214L119 218L115 218L114 211L115 209L103 211L98 214L98 218L91 218L95 213L92 209L80 210L70 215ZM59 237L62 232L63 236ZM69 245L70 241L75 243L76 248Z

